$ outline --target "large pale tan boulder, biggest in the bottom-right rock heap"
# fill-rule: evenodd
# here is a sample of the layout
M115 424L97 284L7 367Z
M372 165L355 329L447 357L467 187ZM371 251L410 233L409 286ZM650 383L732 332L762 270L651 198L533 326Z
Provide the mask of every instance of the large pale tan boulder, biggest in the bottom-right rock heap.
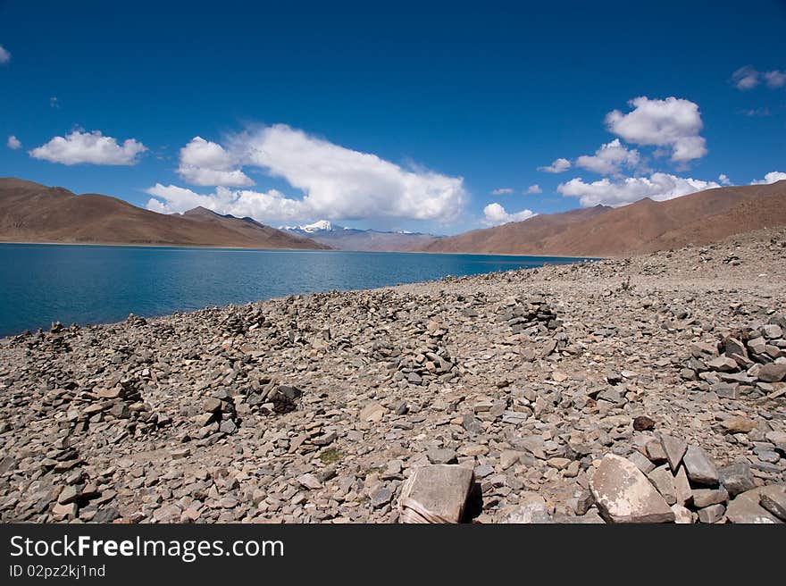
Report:
M590 479L600 515L609 523L672 523L674 512L631 461L607 454Z

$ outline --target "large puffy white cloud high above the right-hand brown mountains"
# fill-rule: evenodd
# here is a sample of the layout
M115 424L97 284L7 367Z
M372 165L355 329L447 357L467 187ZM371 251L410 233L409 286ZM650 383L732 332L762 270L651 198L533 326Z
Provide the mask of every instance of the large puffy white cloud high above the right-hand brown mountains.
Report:
M606 127L636 145L668 147L672 161L685 163L707 155L706 141L698 135L703 127L698 105L690 100L646 96L628 102L633 110L623 114L614 110L606 114Z

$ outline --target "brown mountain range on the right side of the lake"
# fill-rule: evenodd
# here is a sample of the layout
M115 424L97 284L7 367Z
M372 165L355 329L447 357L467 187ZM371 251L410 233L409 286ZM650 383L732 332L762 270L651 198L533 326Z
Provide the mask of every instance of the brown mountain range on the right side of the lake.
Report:
M714 188L667 201L534 216L439 239L426 252L615 256L703 245L786 224L786 180Z

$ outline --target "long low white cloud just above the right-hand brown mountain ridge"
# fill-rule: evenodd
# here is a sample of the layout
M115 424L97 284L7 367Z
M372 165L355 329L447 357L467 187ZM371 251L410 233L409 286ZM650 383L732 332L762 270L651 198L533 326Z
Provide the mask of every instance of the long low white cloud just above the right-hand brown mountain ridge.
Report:
M668 173L652 173L649 177L626 177L610 181L606 178L585 183L581 177L561 183L556 190L565 197L578 197L583 207L593 205L626 205L649 197L656 201L673 199L708 188L721 187L715 181L675 177Z

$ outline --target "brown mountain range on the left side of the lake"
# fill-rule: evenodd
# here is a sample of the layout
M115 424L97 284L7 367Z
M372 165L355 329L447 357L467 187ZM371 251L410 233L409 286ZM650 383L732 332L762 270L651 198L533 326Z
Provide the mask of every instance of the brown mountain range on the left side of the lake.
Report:
M0 241L190 247L326 249L251 218L197 207L150 212L115 197L74 195L32 181L0 178Z

